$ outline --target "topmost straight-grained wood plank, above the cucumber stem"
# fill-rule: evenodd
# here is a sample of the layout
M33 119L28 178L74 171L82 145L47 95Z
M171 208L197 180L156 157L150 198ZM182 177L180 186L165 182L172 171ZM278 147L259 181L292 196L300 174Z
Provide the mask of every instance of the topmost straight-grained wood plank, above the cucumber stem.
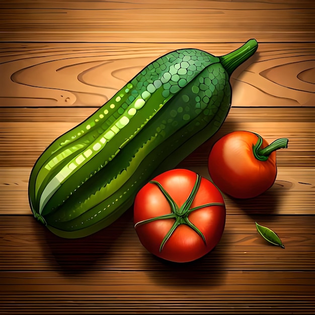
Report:
M314 6L300 2L14 0L0 5L0 41L299 42L314 39ZM267 22L268 21L268 22Z

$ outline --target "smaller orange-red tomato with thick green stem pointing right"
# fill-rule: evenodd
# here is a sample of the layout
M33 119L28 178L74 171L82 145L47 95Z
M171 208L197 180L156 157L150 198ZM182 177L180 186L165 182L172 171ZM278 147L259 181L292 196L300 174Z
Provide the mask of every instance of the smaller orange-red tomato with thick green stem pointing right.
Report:
M234 198L253 198L267 191L277 176L276 150L287 147L288 139L268 144L252 131L232 131L214 143L208 171L221 192Z

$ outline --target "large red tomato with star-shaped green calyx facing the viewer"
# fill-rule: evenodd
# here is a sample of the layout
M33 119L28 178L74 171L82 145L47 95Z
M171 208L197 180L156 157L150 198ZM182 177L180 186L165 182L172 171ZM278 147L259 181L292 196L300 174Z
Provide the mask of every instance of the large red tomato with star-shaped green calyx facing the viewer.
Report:
M134 224L141 244L173 262L190 262L209 253L221 239L225 216L219 190L186 169L156 176L134 200Z

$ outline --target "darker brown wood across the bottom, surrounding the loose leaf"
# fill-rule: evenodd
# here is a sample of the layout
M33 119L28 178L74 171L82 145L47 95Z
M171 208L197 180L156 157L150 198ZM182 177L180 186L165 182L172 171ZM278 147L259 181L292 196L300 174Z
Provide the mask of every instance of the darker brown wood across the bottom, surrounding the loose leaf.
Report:
M255 221L274 228L285 250L266 243ZM314 216L227 215L216 248L203 259L178 265L141 246L131 211L78 240L60 239L30 216L14 221L2 216L2 309L311 313L314 223Z

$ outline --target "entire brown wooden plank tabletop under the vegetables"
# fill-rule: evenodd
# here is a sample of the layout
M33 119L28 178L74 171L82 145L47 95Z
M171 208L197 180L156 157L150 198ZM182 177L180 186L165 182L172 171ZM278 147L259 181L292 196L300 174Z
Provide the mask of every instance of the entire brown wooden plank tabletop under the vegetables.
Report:
M12 0L0 9L0 313L315 312L312 0ZM84 239L58 238L34 219L29 175L51 141L155 58L190 47L223 55L250 38L259 48L232 74L224 124L178 167L209 178L208 153L233 130L289 144L266 193L224 195L226 225L211 253L189 264L153 257L132 208ZM268 244L255 221L285 249Z

